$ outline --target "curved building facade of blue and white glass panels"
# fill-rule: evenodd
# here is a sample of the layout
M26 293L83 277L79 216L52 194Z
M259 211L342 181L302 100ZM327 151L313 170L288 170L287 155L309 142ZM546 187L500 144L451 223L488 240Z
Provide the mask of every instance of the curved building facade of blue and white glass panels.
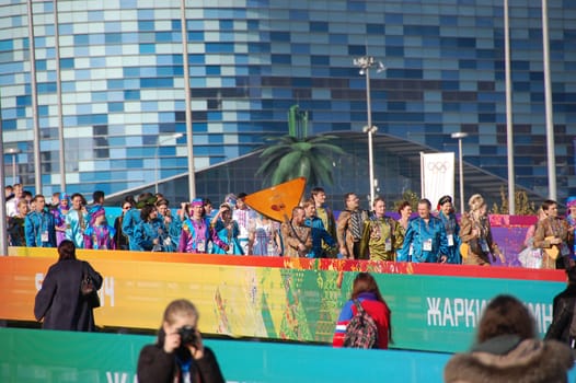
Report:
M370 55L388 68L371 72L377 136L456 152L450 134L464 131L465 163L506 178L503 3L186 1L195 169L241 158L266 137L287 134L295 104L308 111L314 135L360 132L366 80L353 58ZM576 194L576 2L548 3L562 199ZM516 184L544 198L542 9L539 1L509 5ZM188 138L173 138L186 132L181 1L58 0L55 7L33 0L30 12L26 1L7 0L0 15L2 139L4 151L20 150L25 188L39 176L44 194L59 190L60 120L68 193L114 194L187 172ZM34 170L34 115L42 174ZM378 161L383 153L375 155ZM9 183L12 160L4 154ZM393 189L382 167L376 177ZM350 185L368 188L365 169L345 171Z

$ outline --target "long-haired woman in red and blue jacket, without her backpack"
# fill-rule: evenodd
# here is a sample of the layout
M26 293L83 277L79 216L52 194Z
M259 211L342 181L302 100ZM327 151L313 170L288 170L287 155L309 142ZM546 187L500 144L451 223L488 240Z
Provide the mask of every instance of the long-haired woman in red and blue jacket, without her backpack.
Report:
M334 347L344 346L346 327L357 312L355 300L360 302L366 313L376 322L378 340L375 348L387 349L389 341L392 341L392 312L382 298L376 279L368 272L359 272L354 279L352 297L350 300L344 304L338 316L332 345Z

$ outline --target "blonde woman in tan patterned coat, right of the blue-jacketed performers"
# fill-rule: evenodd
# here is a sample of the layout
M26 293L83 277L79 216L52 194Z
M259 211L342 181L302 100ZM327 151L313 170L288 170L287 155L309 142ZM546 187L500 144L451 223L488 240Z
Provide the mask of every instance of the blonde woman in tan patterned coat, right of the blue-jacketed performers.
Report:
M463 213L460 222L460 240L468 244L464 265L491 266L491 262L496 260L496 255L505 264L506 258L492 239L492 229L484 198L480 194L475 194L470 197L468 206L470 212Z

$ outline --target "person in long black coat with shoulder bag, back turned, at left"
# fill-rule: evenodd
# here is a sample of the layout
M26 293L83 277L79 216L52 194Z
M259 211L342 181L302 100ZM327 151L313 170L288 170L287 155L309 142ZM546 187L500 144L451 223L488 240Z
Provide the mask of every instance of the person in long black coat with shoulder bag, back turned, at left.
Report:
M84 274L88 274L94 288L102 287L102 276L88 262L76 258L76 246L70 240L64 240L58 246L58 262L50 266L44 277L42 288L34 302L34 316L44 320L47 329L71 332L93 332L93 306L80 292Z

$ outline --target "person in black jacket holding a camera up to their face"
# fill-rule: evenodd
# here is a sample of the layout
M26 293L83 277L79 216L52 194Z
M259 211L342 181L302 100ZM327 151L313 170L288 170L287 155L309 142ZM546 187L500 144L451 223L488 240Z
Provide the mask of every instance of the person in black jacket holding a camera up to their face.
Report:
M215 353L204 347L197 322L192 302L180 299L166 306L158 341L140 351L139 383L224 382Z

